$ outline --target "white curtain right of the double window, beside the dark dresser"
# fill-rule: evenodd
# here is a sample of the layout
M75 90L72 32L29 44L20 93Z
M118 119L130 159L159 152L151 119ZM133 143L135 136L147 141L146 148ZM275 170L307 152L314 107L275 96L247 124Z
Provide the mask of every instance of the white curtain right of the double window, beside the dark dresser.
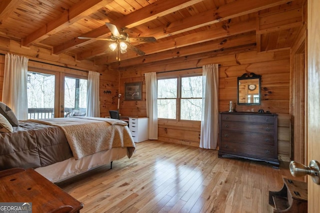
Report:
M215 149L218 140L218 64L203 65L202 76L200 148Z

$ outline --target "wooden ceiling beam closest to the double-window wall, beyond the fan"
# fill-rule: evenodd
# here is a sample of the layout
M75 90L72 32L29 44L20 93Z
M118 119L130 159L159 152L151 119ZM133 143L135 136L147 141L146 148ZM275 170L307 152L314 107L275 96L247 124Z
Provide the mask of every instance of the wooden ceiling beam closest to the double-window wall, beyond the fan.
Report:
M117 69L118 67L127 67L145 63L154 63L156 61L162 61L170 58L184 57L188 55L194 55L204 52L210 52L215 50L223 50L224 48L245 46L255 44L255 33L244 33L234 36L230 36L225 39L216 39L212 41L207 41L204 43L193 44L190 46L185 46L181 48L176 48L174 50L167 50L151 55L146 55L143 57L135 57L128 60L122 60L119 62L113 62L109 65L110 69ZM203 48L205 46L205 48ZM105 57L100 57L94 61L95 64L104 64Z

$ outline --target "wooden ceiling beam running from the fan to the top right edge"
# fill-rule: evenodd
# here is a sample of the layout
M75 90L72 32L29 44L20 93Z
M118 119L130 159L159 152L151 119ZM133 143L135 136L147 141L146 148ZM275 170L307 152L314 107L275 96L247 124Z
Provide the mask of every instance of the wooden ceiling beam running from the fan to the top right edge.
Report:
M236 0L197 15L177 20L165 27L157 27L141 33L139 36L154 36L157 39L207 26L230 18L259 11L261 9L287 3L291 0Z

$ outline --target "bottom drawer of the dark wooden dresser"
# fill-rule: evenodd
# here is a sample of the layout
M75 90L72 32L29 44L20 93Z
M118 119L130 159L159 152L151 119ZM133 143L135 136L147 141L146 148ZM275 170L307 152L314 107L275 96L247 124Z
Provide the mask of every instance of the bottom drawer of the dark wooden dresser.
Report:
M262 158L276 158L276 153L272 147L267 146L254 146L252 144L240 144L236 142L224 142L221 147L221 151L228 153L250 155Z

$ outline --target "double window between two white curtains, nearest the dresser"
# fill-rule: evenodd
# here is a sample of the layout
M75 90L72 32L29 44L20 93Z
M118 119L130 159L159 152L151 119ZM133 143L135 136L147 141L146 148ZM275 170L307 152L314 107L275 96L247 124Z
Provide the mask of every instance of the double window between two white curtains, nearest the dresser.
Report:
M158 118L201 120L202 76L158 79Z

